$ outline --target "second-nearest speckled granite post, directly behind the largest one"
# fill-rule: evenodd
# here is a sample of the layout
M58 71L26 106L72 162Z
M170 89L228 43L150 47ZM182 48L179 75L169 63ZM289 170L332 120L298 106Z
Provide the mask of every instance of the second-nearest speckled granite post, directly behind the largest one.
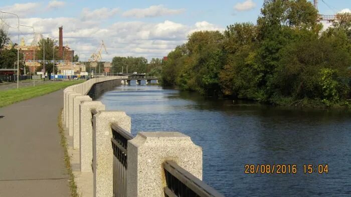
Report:
M94 197L113 195L112 122L115 122L117 125L130 132L130 117L127 116L125 112L100 111L98 114L94 115Z

